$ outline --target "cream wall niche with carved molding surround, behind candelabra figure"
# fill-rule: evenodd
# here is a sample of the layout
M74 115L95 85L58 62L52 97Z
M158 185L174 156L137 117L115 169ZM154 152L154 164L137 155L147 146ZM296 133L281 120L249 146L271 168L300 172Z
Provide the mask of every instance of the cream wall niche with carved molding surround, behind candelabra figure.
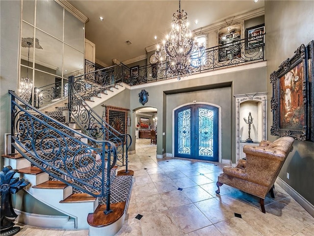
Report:
M235 142L236 160L243 158L242 148L244 145L259 145L262 140L266 140L266 118L267 118L267 92L256 92L234 95L235 103ZM252 114L250 137L253 143L246 142L249 137L248 124L244 118L248 119L249 112Z

